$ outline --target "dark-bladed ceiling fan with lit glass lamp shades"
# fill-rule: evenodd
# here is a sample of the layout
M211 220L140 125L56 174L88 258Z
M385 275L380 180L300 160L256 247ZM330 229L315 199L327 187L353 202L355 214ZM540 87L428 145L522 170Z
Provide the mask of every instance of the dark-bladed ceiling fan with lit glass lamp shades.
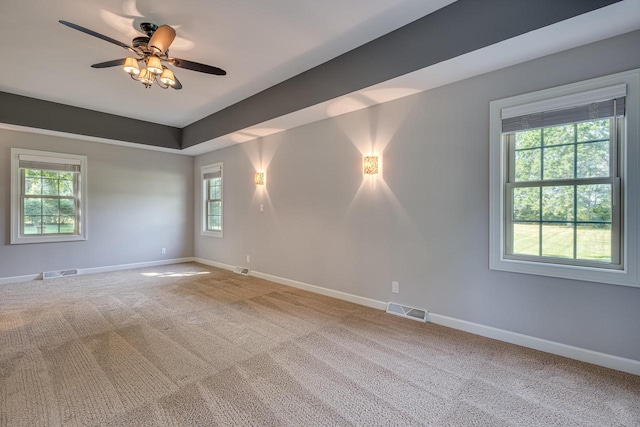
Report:
M96 33L88 28L73 24L68 21L59 21L62 25L66 25L74 30L81 31L90 36L97 37L109 43L123 47L133 53L135 56L129 56L122 59L114 59L112 61L100 62L93 64L92 68L107 68L122 66L124 71L131 76L132 79L141 82L144 87L150 88L154 83L163 89L173 88L182 89L182 83L173 74L166 64L171 64L185 70L198 71L200 73L214 74L224 76L226 71L211 65L200 64L198 62L187 61L186 59L172 58L169 56L169 46L176 37L176 32L168 25L157 26L148 22L140 24L140 29L146 36L136 37L131 41L131 46L121 43L118 40ZM139 63L144 63L141 69Z

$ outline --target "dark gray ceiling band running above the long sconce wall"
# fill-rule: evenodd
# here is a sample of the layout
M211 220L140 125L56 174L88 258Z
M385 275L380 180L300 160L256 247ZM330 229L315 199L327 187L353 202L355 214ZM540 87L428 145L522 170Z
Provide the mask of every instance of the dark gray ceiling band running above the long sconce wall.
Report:
M235 132L619 0L458 0L183 129L182 147Z

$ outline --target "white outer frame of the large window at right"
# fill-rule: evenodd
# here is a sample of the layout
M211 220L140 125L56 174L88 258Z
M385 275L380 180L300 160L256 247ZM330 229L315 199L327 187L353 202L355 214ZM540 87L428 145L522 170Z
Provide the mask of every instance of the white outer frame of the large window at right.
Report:
M620 141L623 191L622 263L620 270L509 259L505 253L505 191L507 146L502 137L502 112L521 114L579 105L586 92L626 85L626 120ZM564 105L563 105L564 104ZM638 274L638 215L640 202L640 70L632 70L490 103L489 159L489 268L515 273L640 287Z

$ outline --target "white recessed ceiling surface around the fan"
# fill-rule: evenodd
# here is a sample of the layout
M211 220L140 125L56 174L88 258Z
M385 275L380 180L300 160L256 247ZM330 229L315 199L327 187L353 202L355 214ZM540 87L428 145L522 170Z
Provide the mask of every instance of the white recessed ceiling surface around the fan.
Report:
M2 0L0 91L184 127L412 22L453 0ZM184 88L144 89L120 67L127 51L58 23L129 44L140 22L173 26L171 56L227 76L174 69Z

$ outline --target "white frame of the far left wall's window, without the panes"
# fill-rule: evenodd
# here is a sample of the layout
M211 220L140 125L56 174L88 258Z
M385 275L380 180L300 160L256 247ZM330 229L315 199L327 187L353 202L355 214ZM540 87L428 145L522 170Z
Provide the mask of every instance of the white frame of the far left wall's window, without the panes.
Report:
M22 234L22 177L20 160L32 160L43 163L80 165L77 190L77 234ZM50 151L11 149L11 244L73 242L87 240L87 156Z

